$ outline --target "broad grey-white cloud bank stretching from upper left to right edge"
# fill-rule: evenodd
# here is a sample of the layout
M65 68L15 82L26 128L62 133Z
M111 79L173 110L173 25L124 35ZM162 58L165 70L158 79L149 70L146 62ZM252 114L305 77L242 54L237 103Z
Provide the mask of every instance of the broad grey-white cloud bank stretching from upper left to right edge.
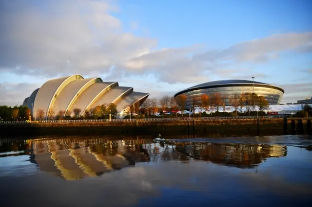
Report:
M212 76L250 78L250 71L241 69L239 63L263 63L288 51L312 52L312 32L276 34L206 52L202 45L156 49L157 39L123 32L123 22L112 15L119 12L114 3L114 0L1 1L0 74L45 78L102 74L112 81L130 75L143 78L156 74L155 82L169 83L169 88L176 83L186 86L208 82ZM130 19L130 28L138 27L137 22ZM265 74L261 71L252 75L266 78ZM13 88L20 90L20 87ZM36 87L25 94L12 90L1 96L19 94L10 102L21 103ZM141 88L144 89L138 90ZM184 88L181 86L180 90ZM144 90L151 93L151 97L155 96L153 92L167 91L178 90L156 88L153 91L151 87Z

